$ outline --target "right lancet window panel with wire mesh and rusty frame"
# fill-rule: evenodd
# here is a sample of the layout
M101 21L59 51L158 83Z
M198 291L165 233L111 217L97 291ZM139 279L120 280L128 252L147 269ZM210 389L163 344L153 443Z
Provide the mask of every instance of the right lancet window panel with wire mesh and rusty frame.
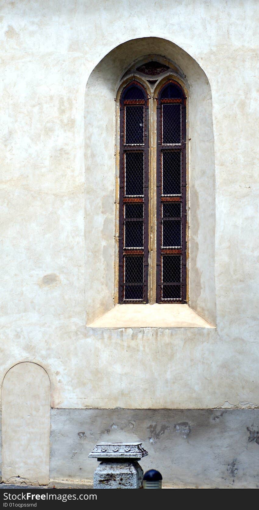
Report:
M157 302L186 301L186 99L165 84L157 108Z

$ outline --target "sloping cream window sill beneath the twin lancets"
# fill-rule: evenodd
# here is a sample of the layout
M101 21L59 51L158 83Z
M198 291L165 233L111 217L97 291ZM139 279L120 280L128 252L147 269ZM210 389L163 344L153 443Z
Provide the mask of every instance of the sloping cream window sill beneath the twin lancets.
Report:
M117 304L88 327L207 327L215 328L188 304Z

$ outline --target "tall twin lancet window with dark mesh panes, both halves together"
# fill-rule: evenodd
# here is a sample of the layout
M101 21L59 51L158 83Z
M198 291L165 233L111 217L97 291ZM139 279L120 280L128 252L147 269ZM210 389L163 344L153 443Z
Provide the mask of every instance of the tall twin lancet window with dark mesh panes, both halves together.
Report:
M120 303L148 302L149 270L154 272L149 267L149 225L157 232L156 300L186 302L186 98L173 80L157 97L155 220L149 218L150 100L154 98L136 80L120 98Z

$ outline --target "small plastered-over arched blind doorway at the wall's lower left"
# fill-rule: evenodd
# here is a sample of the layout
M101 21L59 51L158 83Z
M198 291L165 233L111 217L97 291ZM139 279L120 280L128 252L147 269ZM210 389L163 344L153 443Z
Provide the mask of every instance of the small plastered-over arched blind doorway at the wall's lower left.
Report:
M22 362L2 387L2 478L6 483L49 482L50 380L40 365Z

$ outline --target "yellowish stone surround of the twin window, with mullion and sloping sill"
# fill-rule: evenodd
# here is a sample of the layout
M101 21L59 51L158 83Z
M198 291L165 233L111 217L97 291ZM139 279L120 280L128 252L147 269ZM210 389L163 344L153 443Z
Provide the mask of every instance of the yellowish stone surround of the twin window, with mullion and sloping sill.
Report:
M159 59L161 60L161 59ZM173 67L173 66L172 66ZM157 101L160 89L170 79L178 82L186 95L186 249L187 249L187 302L189 302L189 266L188 266L188 98L189 91L184 80L174 69L169 69L159 76L143 75L138 71L129 71L123 77L116 96L116 261L114 281L114 308L93 321L88 327L92 328L121 328L121 327L197 327L214 328L210 322L199 316L188 304L156 303L156 172L157 172ZM149 80L153 79L154 84ZM149 97L149 278L148 278L148 304L119 304L119 173L120 173L120 97L125 86L132 80L139 81L146 89ZM155 228L152 226L155 225Z

